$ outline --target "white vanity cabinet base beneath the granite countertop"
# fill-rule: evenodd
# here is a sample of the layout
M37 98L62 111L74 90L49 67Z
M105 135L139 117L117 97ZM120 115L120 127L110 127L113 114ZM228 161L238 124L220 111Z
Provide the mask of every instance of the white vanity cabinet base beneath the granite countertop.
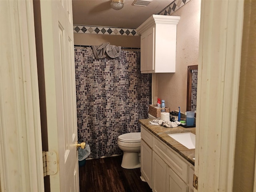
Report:
M141 138L142 179L152 191L193 192L194 166L144 126Z

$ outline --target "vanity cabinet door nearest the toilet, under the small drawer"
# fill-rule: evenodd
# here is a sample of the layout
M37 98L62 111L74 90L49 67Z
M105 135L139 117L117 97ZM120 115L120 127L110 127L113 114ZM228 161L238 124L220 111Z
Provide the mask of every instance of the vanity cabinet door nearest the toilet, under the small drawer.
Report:
M144 142L144 140L141 140L140 143L140 153L140 172L142 178L144 178L150 188L152 188L152 149Z

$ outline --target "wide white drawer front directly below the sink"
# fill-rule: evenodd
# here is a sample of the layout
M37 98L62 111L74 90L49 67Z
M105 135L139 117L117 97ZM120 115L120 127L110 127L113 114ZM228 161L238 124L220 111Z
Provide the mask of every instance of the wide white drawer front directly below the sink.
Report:
M188 183L189 164L158 138L154 138L153 141L154 152L156 152L184 182Z

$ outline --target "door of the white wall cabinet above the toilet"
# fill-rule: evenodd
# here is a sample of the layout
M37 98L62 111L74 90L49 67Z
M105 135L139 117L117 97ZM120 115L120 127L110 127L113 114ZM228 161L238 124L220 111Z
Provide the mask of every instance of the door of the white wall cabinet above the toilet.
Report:
M140 39L140 70L154 70L154 27L148 29L141 35Z

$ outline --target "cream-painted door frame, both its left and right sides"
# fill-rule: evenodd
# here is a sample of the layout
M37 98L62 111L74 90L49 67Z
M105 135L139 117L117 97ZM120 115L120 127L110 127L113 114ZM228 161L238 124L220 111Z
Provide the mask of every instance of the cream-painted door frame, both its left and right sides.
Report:
M219 9L215 3L221 4ZM243 3L202 1L195 162L199 191L232 190ZM44 191L32 7L32 1L0 1L0 17L5 18L0 29L1 191ZM210 85L216 76L214 95Z

